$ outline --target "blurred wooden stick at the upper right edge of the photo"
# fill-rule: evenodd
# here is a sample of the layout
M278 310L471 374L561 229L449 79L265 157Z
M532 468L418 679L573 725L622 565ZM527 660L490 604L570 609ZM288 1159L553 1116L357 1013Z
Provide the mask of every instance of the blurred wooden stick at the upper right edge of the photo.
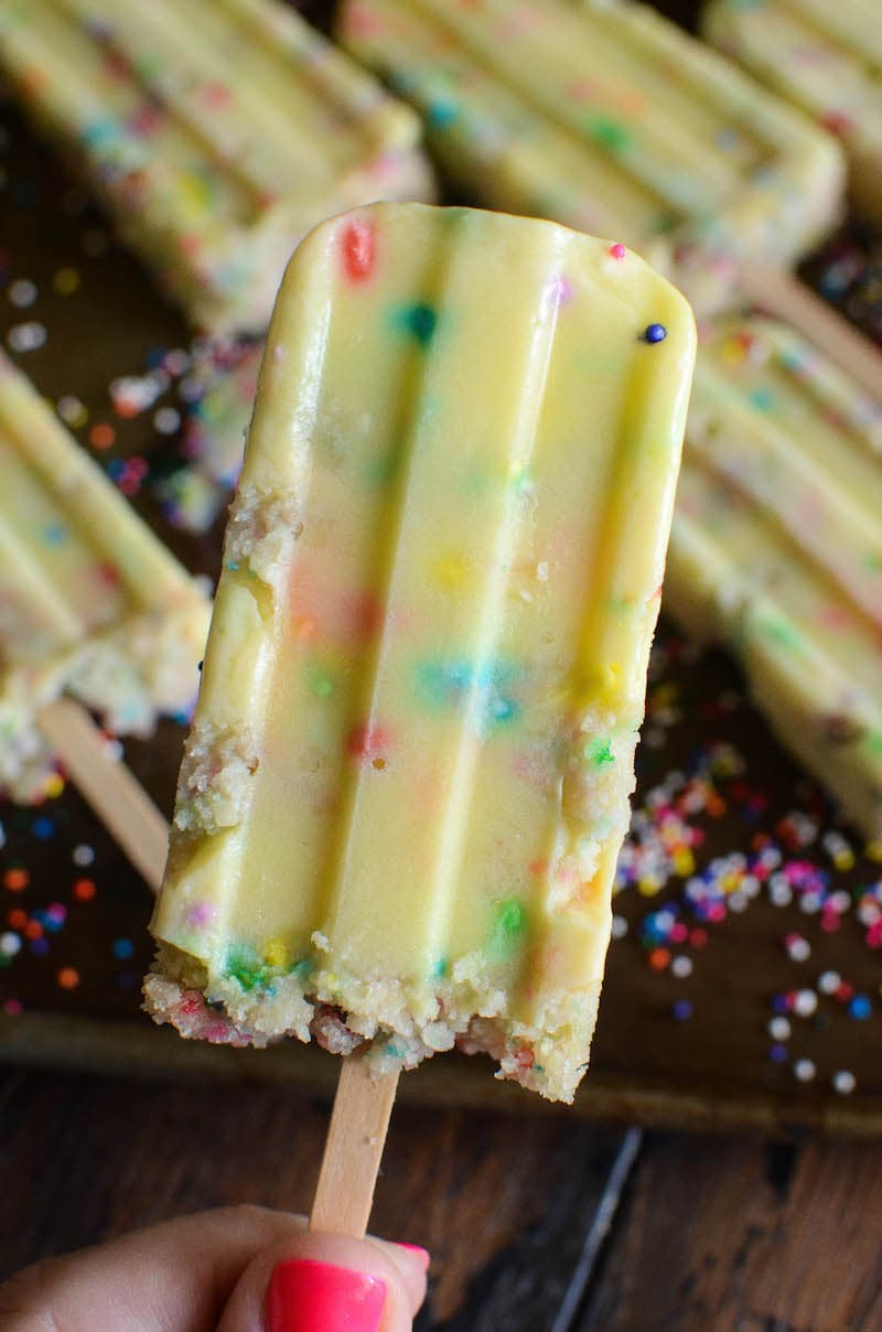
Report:
M867 393L882 396L882 352L805 282L790 273L749 265L741 269L741 285L751 301L805 333Z

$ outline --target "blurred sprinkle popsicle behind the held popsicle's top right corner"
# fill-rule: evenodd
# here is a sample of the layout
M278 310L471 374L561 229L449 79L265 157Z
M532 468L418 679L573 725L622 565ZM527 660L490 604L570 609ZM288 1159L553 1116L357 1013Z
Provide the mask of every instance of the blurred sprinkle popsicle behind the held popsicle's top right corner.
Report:
M699 312L841 212L833 137L645 5L345 0L338 32L473 197L620 236Z

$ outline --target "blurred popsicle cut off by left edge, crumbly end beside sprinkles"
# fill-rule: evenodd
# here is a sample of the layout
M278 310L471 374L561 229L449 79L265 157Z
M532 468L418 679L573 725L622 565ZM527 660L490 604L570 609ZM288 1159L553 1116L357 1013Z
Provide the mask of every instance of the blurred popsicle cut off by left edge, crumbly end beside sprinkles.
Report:
M65 738L77 771L88 765L88 718L61 694L119 734L148 735L160 713L189 707L209 603L1 353L0 473L0 787L28 801ZM123 782L111 806L135 799ZM147 834L153 878L159 831Z

